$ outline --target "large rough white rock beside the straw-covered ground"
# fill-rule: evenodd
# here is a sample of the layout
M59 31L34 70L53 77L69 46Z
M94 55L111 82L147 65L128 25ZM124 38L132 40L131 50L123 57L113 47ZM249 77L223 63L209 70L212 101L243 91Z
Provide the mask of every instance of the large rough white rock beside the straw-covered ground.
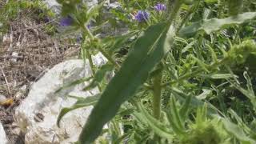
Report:
M106 63L102 54L93 57L96 66ZM63 107L69 107L76 102L66 95L72 94L86 98L98 94L98 89L82 91L85 84L73 86L54 94L63 84L73 82L82 77L90 77L89 62L83 60L68 60L54 66L42 78L31 86L27 98L15 111L15 117L21 130L26 133L25 143L72 143L78 136L88 118L92 106L71 111L56 125L58 114Z

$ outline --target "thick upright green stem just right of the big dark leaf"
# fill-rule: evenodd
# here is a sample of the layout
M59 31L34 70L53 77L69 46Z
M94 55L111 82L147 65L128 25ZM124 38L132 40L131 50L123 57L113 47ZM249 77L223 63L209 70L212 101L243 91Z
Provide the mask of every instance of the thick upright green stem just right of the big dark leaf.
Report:
M154 118L159 119L161 114L161 97L162 97L162 71L154 76L153 79L153 113Z

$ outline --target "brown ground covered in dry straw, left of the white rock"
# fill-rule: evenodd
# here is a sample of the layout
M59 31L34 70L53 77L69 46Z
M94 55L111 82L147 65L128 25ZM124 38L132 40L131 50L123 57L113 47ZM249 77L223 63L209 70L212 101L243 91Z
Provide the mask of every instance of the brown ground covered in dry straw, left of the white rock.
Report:
M9 100L0 102L0 120L11 143L24 143L14 111L26 98L30 85L51 67L79 52L78 45L47 34L44 27L48 23L21 14L10 22L0 42L0 95Z

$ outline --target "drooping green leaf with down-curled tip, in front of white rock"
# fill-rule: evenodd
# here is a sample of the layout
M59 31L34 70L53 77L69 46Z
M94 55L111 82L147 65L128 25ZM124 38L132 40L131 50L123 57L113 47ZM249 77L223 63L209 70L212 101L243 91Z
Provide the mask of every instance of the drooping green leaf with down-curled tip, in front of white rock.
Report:
M97 94L97 95L90 96L87 98L71 97L71 98L77 98L78 101L75 102L73 106L65 107L61 110L60 114L58 114L57 126L59 127L59 124L60 124L62 118L65 116L65 114L69 113L71 110L76 110L78 108L82 108L85 106L94 105L96 102L98 102L98 99L100 98L100 96L101 96L101 94Z

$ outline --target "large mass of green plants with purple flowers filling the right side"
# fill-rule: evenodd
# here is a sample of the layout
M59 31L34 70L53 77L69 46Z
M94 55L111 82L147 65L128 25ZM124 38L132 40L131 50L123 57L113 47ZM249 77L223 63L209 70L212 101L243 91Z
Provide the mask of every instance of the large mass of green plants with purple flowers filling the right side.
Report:
M89 59L93 71L92 78L60 90L90 80L84 90L101 93L79 98L57 123L92 104L78 143L256 143L256 3L119 2L104 17L104 2L88 7L82 0L58 0L60 26L81 34L80 58ZM106 25L128 30L98 36ZM109 61L100 68L92 62L97 52ZM115 73L110 82L109 71Z

